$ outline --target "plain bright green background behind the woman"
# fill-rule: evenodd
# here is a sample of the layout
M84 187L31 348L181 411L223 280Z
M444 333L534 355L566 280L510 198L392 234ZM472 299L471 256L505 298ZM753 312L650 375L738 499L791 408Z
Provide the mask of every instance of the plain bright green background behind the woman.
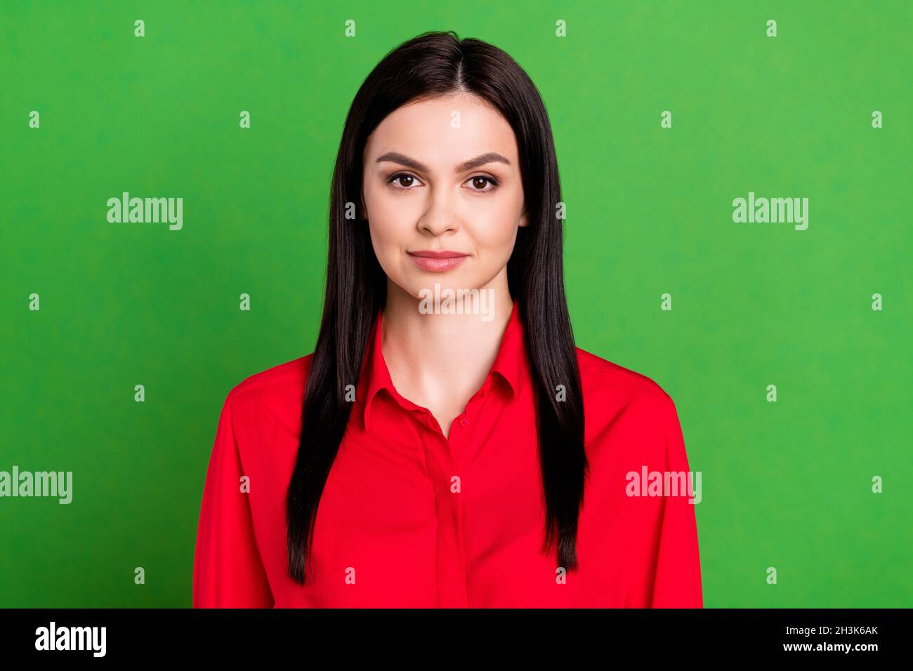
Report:
M911 7L5 0L0 470L74 491L0 499L0 606L190 605L226 393L313 349L348 106L431 29L540 88L578 345L677 404L706 605L913 605ZM183 230L108 223L122 191ZM750 191L808 230L733 223Z

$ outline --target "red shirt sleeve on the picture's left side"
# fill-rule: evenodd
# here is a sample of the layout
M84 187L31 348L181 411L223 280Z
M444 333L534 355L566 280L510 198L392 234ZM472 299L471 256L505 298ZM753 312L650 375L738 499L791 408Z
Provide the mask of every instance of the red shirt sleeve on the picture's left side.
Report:
M194 608L270 608L266 571L254 537L250 499L229 393L215 430L215 444L200 507L194 550Z

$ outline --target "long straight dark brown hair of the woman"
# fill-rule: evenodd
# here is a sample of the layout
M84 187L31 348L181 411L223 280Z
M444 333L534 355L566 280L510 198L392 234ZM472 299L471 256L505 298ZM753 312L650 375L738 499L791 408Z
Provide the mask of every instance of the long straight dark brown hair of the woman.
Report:
M525 324L539 432L546 507L543 551L558 542L559 566L577 568L577 523L588 469L583 449L580 372L564 296L561 185L549 117L539 91L507 53L453 31L404 42L373 68L352 100L333 170L330 253L320 334L301 410L298 459L289 482L289 576L306 578L320 497L345 434L373 320L386 299L386 275L374 256L361 204L362 154L368 136L392 111L420 98L468 92L509 122L519 148L529 225L508 261L508 285ZM556 388L563 385L564 400ZM310 575L310 571L308 571Z

